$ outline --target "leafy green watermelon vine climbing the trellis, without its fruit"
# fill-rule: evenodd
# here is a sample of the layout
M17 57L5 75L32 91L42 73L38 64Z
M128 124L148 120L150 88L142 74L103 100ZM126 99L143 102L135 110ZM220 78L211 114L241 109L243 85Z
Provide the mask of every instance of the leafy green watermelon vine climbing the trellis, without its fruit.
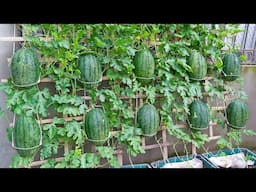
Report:
M17 89L9 79L0 85L7 95L7 109L19 115L24 111L37 115L40 120L54 116L52 122L43 125L43 145L39 159L48 161L41 167L118 167L114 150L120 145L128 154L145 153L141 146L141 130L136 125L134 103L138 94L145 95L144 102L157 106L161 124L178 140L202 147L209 141L206 134L180 129L186 122L189 104L196 98L209 98L211 120L224 125L211 103L224 100L224 93L245 96L221 78L223 48L235 52L225 43L241 30L238 25L202 24L24 24L21 25L26 41L23 47L36 49L40 56L41 79L50 78L49 88L44 83L30 89ZM153 83L143 85L134 75L133 59L137 51L148 48L153 53L156 70ZM188 56L193 50L207 58L211 80L191 81ZM78 79L77 60L83 53L93 53L102 65L107 81L102 85L84 87ZM241 56L243 59L243 56ZM241 78L237 82L242 82ZM89 96L90 101L81 96ZM126 97L128 99L122 99ZM97 105L104 108L113 132L105 146L96 147L95 153L85 152L86 134L81 121L74 117L85 116ZM0 116L4 112L0 110ZM71 121L65 121L70 117ZM8 129L9 135L11 129ZM244 130L245 134L254 132ZM227 134L232 137L232 133ZM236 138L236 137L232 137ZM230 146L221 138L219 146ZM64 144L74 145L57 162L54 155ZM175 144L173 144L175 145ZM102 164L102 161L106 162ZM28 166L30 160L16 155L12 167Z

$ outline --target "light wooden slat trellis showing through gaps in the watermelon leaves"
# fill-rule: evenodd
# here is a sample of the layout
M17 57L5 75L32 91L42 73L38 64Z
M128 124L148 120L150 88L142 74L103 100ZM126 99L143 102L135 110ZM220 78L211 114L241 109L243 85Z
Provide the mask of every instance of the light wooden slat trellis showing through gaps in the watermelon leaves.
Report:
M43 39L43 40L47 40L47 39ZM0 37L0 41L7 41L7 42L21 42L21 41L25 41L25 39L23 37ZM10 62L10 58L8 59L8 62ZM108 78L106 76L103 77L103 81L107 81ZM205 82L206 81L210 81L211 80L211 77L206 77L205 78ZM1 82L7 82L7 79L1 79ZM52 83L53 80L50 79L50 78L43 78L40 80L40 83ZM224 94L227 94L227 93L224 93ZM209 98L206 93L204 93L204 95ZM157 95L156 96L157 98L160 98L160 97L163 97L161 95ZM87 100L87 101L90 101L91 98L88 96L88 95L84 95L82 96L83 99ZM127 96L123 96L123 97L120 97L120 99L122 100L131 100L131 99L135 99L136 103L138 103L138 106L141 106L143 104L143 99L145 98L145 95L142 95L140 93L136 94L136 97L135 98L131 98L131 97L127 97ZM225 102L224 102L225 103ZM212 107L212 110L225 110L225 105L223 106L214 106ZM136 108L137 110L137 108ZM173 110L173 112L175 112L175 110ZM76 117L65 117L64 118L65 121L72 121L72 120L76 120L76 121L82 121L83 120L83 116L76 116ZM49 119L42 119L39 123L44 125L44 124L49 124L49 123L52 123L53 119L52 118L49 118ZM13 124L11 124L10 126L13 126ZM216 122L212 122L210 121L210 124L209 124L209 140L210 141L213 141L213 140L217 140L219 139L221 136L220 135L214 135L214 126L217 126L217 123ZM178 124L178 127L179 128L186 128L187 125L185 123L183 124ZM162 135L162 143L158 143L158 144L151 144L151 145L146 145L145 143L145 137L142 137L141 138L141 144L142 144L142 147L143 149L145 150L151 150L151 149L156 149L156 148L159 148L160 146L162 147L163 149L163 158L164 159L167 159L168 158L168 146L171 145L170 142L168 142L167 140L167 133L166 133L166 127L164 126L161 126L161 135ZM118 131L112 131L111 134L112 135L115 135ZM67 151L68 148L67 148L67 145L65 145L65 151ZM193 154L196 154L196 147L192 144L192 153ZM115 150L115 154L117 155L117 158L118 158L118 161L119 163L122 165L123 164L123 150L122 149L117 149ZM61 161L63 157L58 157L56 158L56 161ZM39 166L43 163L47 162L47 160L43 160L43 161L34 161L32 162L31 166Z

